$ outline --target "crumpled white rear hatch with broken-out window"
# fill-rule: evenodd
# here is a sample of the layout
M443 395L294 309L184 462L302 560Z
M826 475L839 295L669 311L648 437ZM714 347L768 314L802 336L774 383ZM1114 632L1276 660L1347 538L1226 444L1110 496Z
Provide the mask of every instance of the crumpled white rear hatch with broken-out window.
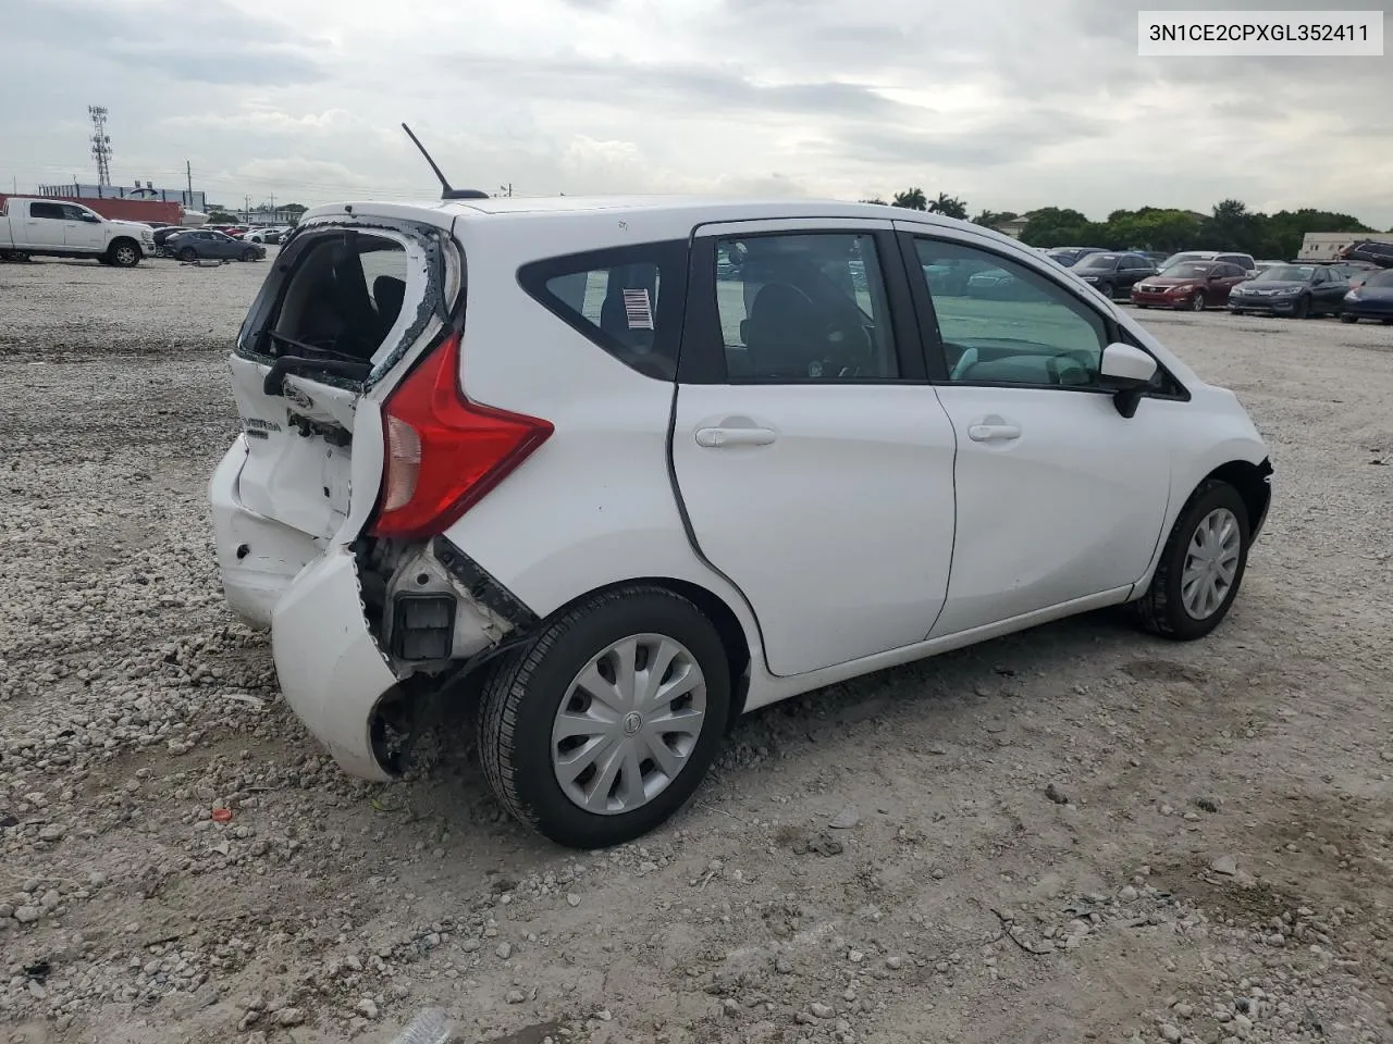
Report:
M382 472L378 404L444 326L461 260L442 230L320 224L286 252L231 356L241 504L318 540L357 536Z

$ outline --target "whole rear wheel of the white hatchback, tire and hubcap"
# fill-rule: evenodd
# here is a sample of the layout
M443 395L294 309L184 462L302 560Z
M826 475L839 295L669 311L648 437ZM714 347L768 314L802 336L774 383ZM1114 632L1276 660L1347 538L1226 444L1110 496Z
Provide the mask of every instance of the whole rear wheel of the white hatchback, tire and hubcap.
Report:
M663 587L603 592L490 670L479 757L513 816L571 848L646 834L701 784L730 714L715 625Z

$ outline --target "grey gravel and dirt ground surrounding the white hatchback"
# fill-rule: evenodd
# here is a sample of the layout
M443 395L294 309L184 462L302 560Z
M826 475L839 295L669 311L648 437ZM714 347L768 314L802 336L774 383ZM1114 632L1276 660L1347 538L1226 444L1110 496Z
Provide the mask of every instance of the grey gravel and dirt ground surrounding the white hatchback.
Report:
M1208 640L1100 614L812 693L577 855L465 731L344 778L223 608L265 270L0 266L0 1038L1393 1040L1393 330L1145 313L1277 469Z

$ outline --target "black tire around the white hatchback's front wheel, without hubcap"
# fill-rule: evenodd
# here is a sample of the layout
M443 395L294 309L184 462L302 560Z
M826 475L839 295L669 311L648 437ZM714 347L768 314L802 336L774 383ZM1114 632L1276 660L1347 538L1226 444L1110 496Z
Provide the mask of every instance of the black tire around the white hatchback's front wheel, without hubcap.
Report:
M1238 567L1219 607L1204 619L1195 619L1185 610L1180 579L1190 555L1190 541L1195 529L1216 508L1227 508L1238 519ZM1248 507L1238 490L1217 479L1202 483L1181 508L1180 518L1176 519L1166 547L1160 553L1160 562L1156 565L1151 586L1138 601L1133 603L1141 626L1153 635L1177 642L1192 642L1219 626L1229 615L1229 608L1243 586L1243 575L1248 568L1251 529Z

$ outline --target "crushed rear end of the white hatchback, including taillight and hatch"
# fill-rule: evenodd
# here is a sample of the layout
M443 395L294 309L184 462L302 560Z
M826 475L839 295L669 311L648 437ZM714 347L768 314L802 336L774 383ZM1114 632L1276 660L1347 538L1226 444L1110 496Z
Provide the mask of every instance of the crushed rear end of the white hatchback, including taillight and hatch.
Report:
M400 770L419 690L529 622L437 536L552 432L460 386L451 224L312 212L228 361L242 433L209 489L224 593L270 628L287 702L364 778Z

